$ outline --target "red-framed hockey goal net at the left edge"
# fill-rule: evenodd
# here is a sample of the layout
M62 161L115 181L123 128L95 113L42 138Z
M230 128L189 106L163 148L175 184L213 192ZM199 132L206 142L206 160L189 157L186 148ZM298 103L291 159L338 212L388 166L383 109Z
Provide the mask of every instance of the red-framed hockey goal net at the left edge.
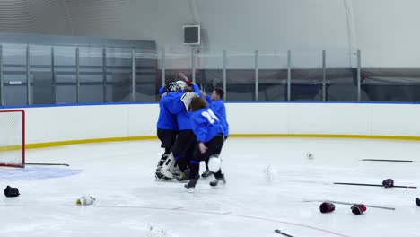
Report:
M0 166L25 167L24 110L0 110Z

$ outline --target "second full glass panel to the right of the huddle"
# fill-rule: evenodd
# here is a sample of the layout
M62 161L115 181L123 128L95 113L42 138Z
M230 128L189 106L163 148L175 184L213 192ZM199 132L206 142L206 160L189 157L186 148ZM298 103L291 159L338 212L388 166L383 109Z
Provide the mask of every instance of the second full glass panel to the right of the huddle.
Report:
M258 100L287 100L287 52L258 54Z

